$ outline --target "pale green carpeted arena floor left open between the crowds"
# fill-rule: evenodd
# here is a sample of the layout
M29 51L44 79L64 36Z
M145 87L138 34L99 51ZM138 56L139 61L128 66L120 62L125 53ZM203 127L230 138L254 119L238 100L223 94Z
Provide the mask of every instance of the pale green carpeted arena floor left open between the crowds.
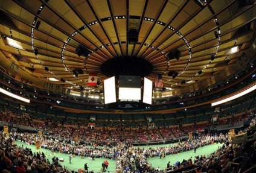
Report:
M22 143L22 142L15 142L18 146L22 146L24 145L25 147L31 148L33 152L43 152L45 153L46 159L49 159L51 162L51 159L56 156L59 158L63 158L64 162L59 162L60 165L62 166L66 166L70 171L74 170L74 171L78 171L78 169L83 169L85 163L88 163L89 166L89 170L94 170L94 172L100 172L100 168L101 168L101 163L106 160L106 159L98 159L95 158L95 160L89 160L88 157L86 157L85 159L81 159L78 156L75 156L71 159L71 164L69 164L69 159L68 159L68 154L62 154L62 153L53 153L48 149L43 149L41 148L40 150L36 150L34 145L27 145L26 143ZM168 146L169 144L165 144L165 145L158 145L158 146ZM171 144L174 145L174 144ZM174 154L174 155L170 155L170 156L166 156L165 158L159 159L159 157L152 157L149 158L149 163L157 168L161 168L161 169L165 169L167 163L170 161L170 163L173 165L176 161L182 161L183 159L189 159L190 157L194 156L198 156L198 155L203 155L205 154L205 156L207 156L208 154L213 153L214 151L216 151L216 149L218 148L218 146L222 146L222 144L213 144L213 145L207 145L207 146L203 146L201 148L197 148L197 153L194 153L193 150L191 151L187 151L184 153L179 153L179 154ZM140 148L149 148L150 146L139 146ZM156 148L156 145L151 146L152 148ZM109 168L107 169L107 171L109 172L115 172L115 160L110 160L107 159L107 161L109 162Z

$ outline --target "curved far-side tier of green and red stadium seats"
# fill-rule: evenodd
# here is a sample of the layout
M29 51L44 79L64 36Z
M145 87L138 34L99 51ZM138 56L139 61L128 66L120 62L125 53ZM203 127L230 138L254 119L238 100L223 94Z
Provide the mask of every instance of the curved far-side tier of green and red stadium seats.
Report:
M255 98L223 104L217 107L167 114L92 114L68 113L59 109L42 109L20 105L0 98L0 121L25 125L56 136L58 140L161 142L188 136L190 132L203 132L205 125L230 125L250 120L255 109ZM21 109L22 107L22 109ZM253 111L255 111L252 109ZM91 116L96 121L91 121ZM152 121L149 125L149 118ZM88 128L89 123L95 127ZM51 129L51 130L49 130Z

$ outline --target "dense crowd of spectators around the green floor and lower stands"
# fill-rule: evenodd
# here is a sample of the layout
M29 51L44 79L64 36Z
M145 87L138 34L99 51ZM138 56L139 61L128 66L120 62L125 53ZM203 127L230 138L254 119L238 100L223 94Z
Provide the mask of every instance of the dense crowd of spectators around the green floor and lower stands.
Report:
M22 115L23 119L15 118L15 116L13 115L9 116L7 111L5 111L4 113L1 112L0 120L2 122L11 122L14 124L16 123L26 125L23 124L23 119L30 119L29 117L27 117L27 115ZM253 118L251 123L255 123L254 112L249 113L249 116ZM246 118L246 116L244 117ZM31 153L30 149L28 148L24 149L14 145L14 140L19 140L21 142L28 143L29 145L34 145L36 140L40 140L42 141L42 148L50 149L51 151L57 151L66 154L72 153L77 156L83 157L95 156L106 159L115 159L117 161L118 173L135 171L159 172L158 169L152 168L152 166L150 166L150 163L147 162L148 157L161 158L162 156L166 156L168 154L176 154L183 151L189 151L191 149L199 148L201 146L208 145L214 142L230 143L230 138L228 137L228 134L214 134L205 136L194 136L193 140L179 142L178 145L142 149L133 146L132 143L127 141L120 142L118 140L112 140L106 142L106 140L94 140L94 142L91 143L82 142L82 139L84 137L88 137L89 135L95 136L93 139L97 139L96 136L107 136L107 134L109 134L109 131L106 129L97 130L97 132L95 133L95 129L88 130L86 128L64 126L53 121L48 121L48 123L46 124L42 124L40 122L37 124L30 119L30 121L26 123L28 126L31 127L47 128L47 133L43 133L42 136L39 136L38 133L18 133L16 131L13 131L8 137L5 136L4 133L0 133L1 171L2 169L7 169L10 172L18 172L17 170L25 169L30 170L30 172L69 172L67 169L62 168L62 166L60 166L59 164L54 164L55 162L51 163L45 160L45 158L43 157L37 157L37 154ZM164 128L160 128L160 132L161 129ZM168 128L166 128L165 130L168 131ZM147 141L149 140L147 133L153 135L153 133L156 133L156 131L146 131L139 129L136 130L136 137L138 138L138 140ZM126 134L132 134L132 132L130 131ZM77 139L75 139L75 136L77 136ZM116 134L116 136L116 139L120 137L118 136L118 133ZM105 147L102 148L99 146ZM222 148L219 148L218 151L216 151L216 153L212 154L210 157L201 156L195 158L194 161L190 158L188 160L183 160L182 162L177 162L177 164L174 163L174 166L176 166L177 169L182 169L186 166L194 166L194 164L196 164L196 170L198 172L226 172L231 166L231 160L237 157L239 152L241 153L245 149L248 149L248 147L251 146L240 146L232 144L223 145ZM169 168L169 170L167 171L170 171L171 169Z

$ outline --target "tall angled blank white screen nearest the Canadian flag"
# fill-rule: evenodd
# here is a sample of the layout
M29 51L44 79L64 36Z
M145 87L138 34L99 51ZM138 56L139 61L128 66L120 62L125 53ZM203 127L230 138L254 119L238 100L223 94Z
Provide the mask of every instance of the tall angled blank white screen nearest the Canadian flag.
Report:
M115 94L115 77L104 80L104 102L105 104L117 102L117 96Z

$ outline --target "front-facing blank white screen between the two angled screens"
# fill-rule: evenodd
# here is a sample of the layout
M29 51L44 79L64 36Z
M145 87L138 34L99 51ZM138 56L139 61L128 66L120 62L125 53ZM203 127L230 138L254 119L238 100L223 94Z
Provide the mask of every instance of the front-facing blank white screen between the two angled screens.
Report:
M118 98L141 100L141 88L119 87Z

